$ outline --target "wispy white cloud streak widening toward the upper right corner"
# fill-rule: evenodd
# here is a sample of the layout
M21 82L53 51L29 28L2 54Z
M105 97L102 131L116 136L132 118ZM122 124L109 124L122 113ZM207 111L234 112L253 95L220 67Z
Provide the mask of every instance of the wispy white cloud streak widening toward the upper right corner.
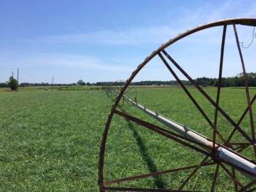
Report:
M244 11L246 10L246 11ZM172 12L166 13L161 21L155 26L141 28L126 28L121 30L104 29L102 31L70 33L63 35L52 35L41 37L30 42L46 44L96 44L96 45L161 45L179 33L189 28L195 28L205 22L234 18L234 17L255 17L256 4L250 7L243 7L242 1L221 1L221 3L205 3L196 9L188 7L179 10L180 15L173 17ZM207 37L211 38L207 38ZM204 30L191 40L191 43L204 43L205 40L212 44L220 42L219 36L214 38L207 30ZM157 47L156 47L157 48ZM152 50L153 51L153 50Z

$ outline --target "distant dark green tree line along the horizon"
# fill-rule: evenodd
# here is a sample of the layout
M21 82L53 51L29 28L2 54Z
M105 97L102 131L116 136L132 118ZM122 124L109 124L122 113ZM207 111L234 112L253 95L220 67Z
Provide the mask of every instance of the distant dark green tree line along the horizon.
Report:
M246 73L248 78L248 85L256 87L256 73L250 72ZM200 86L218 86L218 79L217 78L209 78L209 77L199 77L195 79L195 82ZM0 87L8 87L9 82L0 83ZM87 85L87 86L108 86L108 85L124 85L125 82L97 82L97 83L84 83L81 79L77 81L77 83L70 83L70 84L49 84L49 83L20 83L20 87L24 86L75 86L75 85ZM191 85L189 81L182 81L186 86ZM179 83L177 81L139 81L139 82L132 82L132 85L168 85L168 86L178 86ZM221 87L230 87L230 86L245 86L244 82L244 75L243 73L237 74L235 77L222 77L221 78ZM9 86L10 87L10 86Z

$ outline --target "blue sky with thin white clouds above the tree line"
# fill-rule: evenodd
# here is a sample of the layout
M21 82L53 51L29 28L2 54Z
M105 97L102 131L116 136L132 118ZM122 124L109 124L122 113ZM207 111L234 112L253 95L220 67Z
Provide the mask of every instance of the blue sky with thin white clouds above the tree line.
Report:
M205 22L256 17L256 1L0 1L0 82L20 69L20 82L74 83L127 79L161 44ZM252 27L237 26L244 45ZM221 28L189 36L168 51L192 77L217 77ZM256 41L243 49L255 72ZM228 28L224 76L241 72ZM240 67L240 68L239 68ZM180 77L184 79L183 77ZM158 58L134 79L172 80Z

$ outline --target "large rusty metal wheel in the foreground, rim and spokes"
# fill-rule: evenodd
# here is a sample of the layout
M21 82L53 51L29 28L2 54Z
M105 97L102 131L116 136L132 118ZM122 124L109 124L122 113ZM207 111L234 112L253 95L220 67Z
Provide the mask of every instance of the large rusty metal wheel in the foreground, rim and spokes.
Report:
M248 173L248 172L246 172L246 170L244 170L243 168L239 168L234 164L230 164L227 161L223 161L223 159L220 159L220 158L214 156L214 153L216 152L216 149L219 146L227 148L227 150L235 150L237 155L242 156L240 153L245 148L252 145L253 148L254 148L254 152L256 154L255 127L254 127L255 125L254 125L254 122L253 122L253 113L252 113L252 104L256 99L256 95L254 95L252 99L250 98L249 89L248 89L248 79L246 77L246 70L245 70L245 67L244 67L243 54L241 52L241 47L239 45L239 39L238 39L238 35L237 35L237 30L236 30L236 25L237 24L241 24L241 25L245 25L245 26L256 26L256 19L220 20L220 21L216 21L216 22L212 22L212 23L207 23L207 24L204 24L202 26L197 26L196 28L193 28L193 29L189 29L188 31L186 31L185 33L180 34L176 38L173 38L173 39L169 40L166 44L161 45L161 47L159 47L159 49L152 52L152 54L150 54L150 56L148 56L145 59L145 61L143 61L143 63L141 63L138 66L138 68L136 68L136 70L134 70L134 72L132 72L131 77L129 77L129 79L127 79L124 86L122 87L122 90L120 90L120 92L116 96L115 102L114 102L113 107L111 109L111 112L109 113L109 116L108 116L108 121L106 122L106 127L105 127L104 132L103 132L102 143L101 143L101 146L100 146L100 158L99 158L99 186L100 186L100 191L181 191L182 188L189 181L189 179L191 179L191 177L193 177L193 175L196 173L196 171L199 168L201 168L202 166L209 166L209 165L213 165L213 164L216 164L216 172L214 173L214 178L212 179L211 191L214 191L214 187L216 185L216 179L218 177L220 167L223 168L223 170L225 170L225 172L230 176L230 178L232 180L234 180L234 187L235 187L236 191L246 191L246 189L249 189L253 185L256 184L256 180L252 180L252 182L243 186L236 179L236 170L239 170L240 172L244 172L244 173ZM227 31L227 26L228 25L232 25L233 28L234 28L234 33L235 33L236 42L237 42L237 49L239 51L239 56L240 56L240 59L241 59L241 65L242 65L242 68L243 68L244 81L245 81L245 84L246 84L246 99L247 99L247 102L248 102L248 107L245 109L243 115L241 116L239 122L237 122L237 123L234 122L234 120L232 120L232 118L230 118L230 116L228 116L227 113L225 113L225 111L223 109L221 109L220 106L219 106L220 91L221 91L221 77L222 77L222 68L223 68L223 57L224 57L224 49L225 49L225 36L226 36L226 31ZM202 31L204 29L208 29L208 28L212 28L212 27L216 27L216 26L223 26L223 36L222 36L222 41L221 41L221 55L220 55L220 70L219 70L219 77L218 77L218 90L217 90L217 95L216 95L216 101L214 101L214 100L211 99L211 97L209 97L209 95L207 95L207 93L204 92L204 90L200 86L198 86L198 84L195 83L195 81L180 67L180 65L175 60L173 60L173 58L164 49L166 47L172 45L173 43L177 42L178 40L184 38L185 36L189 36L193 33L196 33L197 31ZM200 93L202 93L202 95L204 95L205 99L209 100L209 102L212 104L212 106L214 106L214 108L215 108L214 122L211 122L209 117L205 114L204 110L196 102L196 100L193 98L191 93L189 93L186 86L184 86L182 81L180 81L179 77L177 76L177 74L175 74L174 70L172 69L170 64L166 61L166 59L164 58L163 55L165 56L165 58L167 58L172 63L172 66L176 67L185 77L187 77L187 79L191 82L191 84L193 84L193 86L195 86L195 88ZM205 120L209 123L209 125L213 129L213 135L212 135L212 140L211 140L213 145L210 149L210 152L209 152L209 150L205 150L205 148L202 148L200 143L196 143L195 141L189 140L188 138L184 138L183 136L180 136L179 134L168 131L168 130L163 129L161 127L157 127L156 125L152 125L152 124L150 124L148 122L145 122L143 120L140 120L140 119L138 119L134 116L127 115L125 113L122 113L122 112L116 110L120 100L124 97L125 90L127 89L129 84L131 83L132 79L134 79L134 77L138 74L138 72L140 72L141 68L143 68L148 63L148 61L150 61L155 56L159 56L161 58L164 65L172 73L172 75L175 77L177 82L180 84L180 86L182 87L184 92L188 95L188 97L191 99L191 101L195 104L196 108L200 111L202 116L204 116ZM239 126L241 124L241 122L243 121L244 116L248 112L249 112L249 115L250 115L250 126L251 126L251 130L252 130L252 135L251 136L246 134L246 132L244 132L243 129ZM218 114L219 113L220 113L220 115L224 116L228 120L228 122L234 127L234 129L232 130L231 134L228 136L227 139L225 139L221 135L220 131L218 131L217 126L216 126L217 121L218 121ZM137 124L143 125L143 127L147 128L147 129L150 129L150 130L152 130L152 131L154 131L158 134L161 134L162 136L165 136L166 138L174 140L177 143L180 143L180 144L184 145L185 147L192 148L193 150L196 150L197 152L200 152L200 153L204 154L205 158L202 160L202 162L200 164L193 165L193 166L188 166L188 167L185 167L185 168L177 168L177 169L173 169L173 170L165 170L165 171L161 171L161 172L154 172L154 173L148 173L148 174L144 174L144 175L137 175L137 176L134 176L134 177L128 177L128 178L105 181L104 180L104 154L105 154L105 148L106 148L106 141L107 141L107 138L108 138L108 131L109 131L109 127L110 127L113 115L120 115L120 116L126 118L127 120L131 120L132 122L136 122ZM239 131L241 136L243 136L247 140L246 143L231 142L232 137L234 136L234 133L236 131ZM217 145L216 136L218 136L220 138L220 140L223 142L223 144L218 143L218 145ZM244 157L244 158L246 158L246 157ZM207 159L209 159L209 161L207 161ZM248 159L248 158L246 158L246 159ZM248 159L248 161L253 162L251 159ZM232 173L226 168L226 166L230 166L232 168ZM178 189L142 189L142 188L109 187L109 185L114 184L114 183L118 183L118 182L125 182L127 180L142 179L142 178L145 178L145 177L151 177L151 176L155 176L155 175L162 175L162 174L171 173L171 172L181 172L181 171L189 170L189 169L194 169L194 170L191 173L191 175L189 175L189 177L186 180L184 180L184 182L182 182L182 184L180 184L180 187ZM248 174L252 174L252 173L248 173ZM256 175L253 175L253 177L256 177Z

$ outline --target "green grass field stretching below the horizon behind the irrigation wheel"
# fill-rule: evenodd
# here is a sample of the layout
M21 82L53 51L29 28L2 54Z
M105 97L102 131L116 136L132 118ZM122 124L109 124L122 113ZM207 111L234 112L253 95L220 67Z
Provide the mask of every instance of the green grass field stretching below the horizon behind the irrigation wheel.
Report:
M189 91L213 120L214 108L195 89ZM216 97L216 88L205 91ZM209 125L182 89L137 88L136 93L131 89L127 95L212 137ZM250 93L253 97L256 90ZM100 141L113 104L106 93L101 90L1 92L0 101L0 191L99 191ZM237 122L246 108L245 90L223 88L220 106ZM124 105L121 102L118 110L161 125L126 102ZM253 111L255 118L255 104ZM232 131L232 126L221 116L218 126L223 136ZM241 127L250 127L248 115ZM248 132L246 128L244 131ZM235 140L241 140L239 134ZM250 150L244 154L255 159ZM115 115L105 158L105 180L113 180L198 164L204 156ZM209 191L215 168L214 165L198 170L184 189ZM118 186L176 189L189 173L170 173ZM239 173L237 178L241 183L248 181ZM232 180L221 169L216 191L234 191Z

